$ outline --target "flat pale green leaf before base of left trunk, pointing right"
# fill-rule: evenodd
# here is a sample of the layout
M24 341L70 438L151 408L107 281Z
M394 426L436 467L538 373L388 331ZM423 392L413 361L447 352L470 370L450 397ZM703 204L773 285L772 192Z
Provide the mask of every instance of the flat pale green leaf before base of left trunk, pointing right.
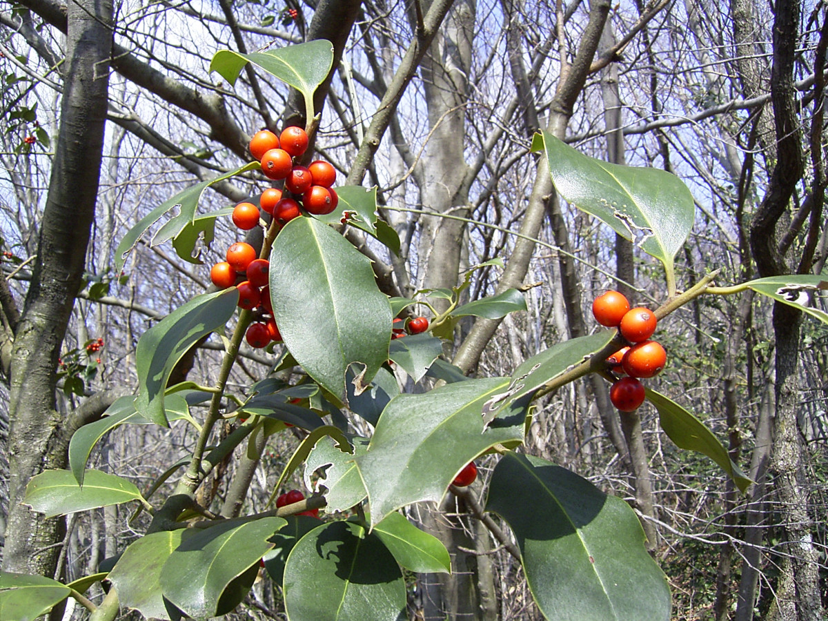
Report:
M131 500L147 502L134 484L114 474L87 470L80 487L69 470L46 470L26 485L23 504L48 518Z

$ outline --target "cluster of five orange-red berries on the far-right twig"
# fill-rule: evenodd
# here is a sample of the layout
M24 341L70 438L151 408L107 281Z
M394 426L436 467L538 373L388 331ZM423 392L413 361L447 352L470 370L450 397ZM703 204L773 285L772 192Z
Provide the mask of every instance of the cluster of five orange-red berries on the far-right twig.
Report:
M609 398L621 412L633 412L644 402L644 385L639 380L654 378L667 363L661 344L649 340L656 331L656 315L643 306L631 309L618 291L607 291L595 298L592 314L600 325L617 327L629 346L609 356L607 363L615 373L626 374L609 388Z

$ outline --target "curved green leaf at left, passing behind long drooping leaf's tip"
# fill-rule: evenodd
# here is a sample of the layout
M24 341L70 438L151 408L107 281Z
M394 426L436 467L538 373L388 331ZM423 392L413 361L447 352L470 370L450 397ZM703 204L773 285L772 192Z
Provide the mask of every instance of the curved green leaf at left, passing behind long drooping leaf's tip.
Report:
M84 472L86 469L86 462L89 460L89 454L92 452L94 445L108 432L112 431L118 426L126 422L137 424L149 424L143 416L140 416L135 411L135 397L119 397L106 412L103 412L103 417L99 421L90 422L88 425L80 427L78 431L72 435L69 441L69 465L72 469L72 474L75 474L75 479L78 484L84 484ZM166 417L169 421L182 418L181 412L185 416L189 416L189 408L184 397L180 395L168 395L164 402L166 408Z

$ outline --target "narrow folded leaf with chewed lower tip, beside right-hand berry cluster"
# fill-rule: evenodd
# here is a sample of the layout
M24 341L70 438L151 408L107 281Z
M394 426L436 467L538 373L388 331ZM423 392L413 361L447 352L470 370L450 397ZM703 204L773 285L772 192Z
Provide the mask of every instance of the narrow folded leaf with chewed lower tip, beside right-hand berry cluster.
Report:
M603 349L614 336L614 330L601 330L594 335L563 341L535 354L515 369L508 388L484 405L484 421L493 420L504 407L514 402L531 398L545 383Z

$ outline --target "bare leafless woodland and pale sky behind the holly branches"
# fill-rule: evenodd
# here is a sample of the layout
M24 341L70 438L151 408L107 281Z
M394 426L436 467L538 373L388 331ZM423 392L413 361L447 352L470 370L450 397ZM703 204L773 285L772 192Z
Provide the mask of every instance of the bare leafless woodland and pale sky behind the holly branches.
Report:
M68 43L73 19L102 29ZM590 334L590 303L608 288L645 305L666 297L652 258L559 200L539 174L546 162L530 152L538 129L689 186L696 226L676 257L679 289L714 268L723 285L823 272L821 2L0 2L4 570L72 580L142 532L117 507L43 521L20 504L22 490L45 467L65 467L71 433L134 392L140 335L209 289L208 268L169 246L141 243L114 271L124 233L185 186L248 161L254 131L301 119L301 100L269 76L246 70L231 88L210 73L214 53L310 39L335 49L335 71L317 91L315 150L339 181L377 186L380 214L402 241L395 255L357 238L383 291L456 286L492 258L505 267L473 272L468 301L525 286L526 312L458 325L445 357L465 373L508 376ZM418 44L424 53L412 63ZM108 72L108 84L79 92L73 78L84 70ZM69 94L79 99L67 107ZM74 124L63 127L70 108ZM237 177L211 185L202 204L220 209L265 187L262 176ZM219 219L200 259L219 260L235 235ZM94 353L92 339L103 339ZM821 619L826 325L763 296L706 296L673 314L660 340L669 363L654 384L724 441L756 482L747 493L706 457L677 450L654 408L622 428L597 377L545 397L525 452L636 508L676 619ZM214 373L221 348L201 343L191 373ZM272 362L243 349L231 384L265 377ZM252 510L267 503L296 442L274 437L253 470ZM123 427L90 464L145 488L191 441L181 426ZM242 460L214 471L208 504L225 498ZM485 481L486 459L479 465ZM457 511L455 497L445 502L448 517L412 518L469 570L418 576L412 614L540 619L513 557L464 503ZM280 618L279 605L254 588L245 614Z

